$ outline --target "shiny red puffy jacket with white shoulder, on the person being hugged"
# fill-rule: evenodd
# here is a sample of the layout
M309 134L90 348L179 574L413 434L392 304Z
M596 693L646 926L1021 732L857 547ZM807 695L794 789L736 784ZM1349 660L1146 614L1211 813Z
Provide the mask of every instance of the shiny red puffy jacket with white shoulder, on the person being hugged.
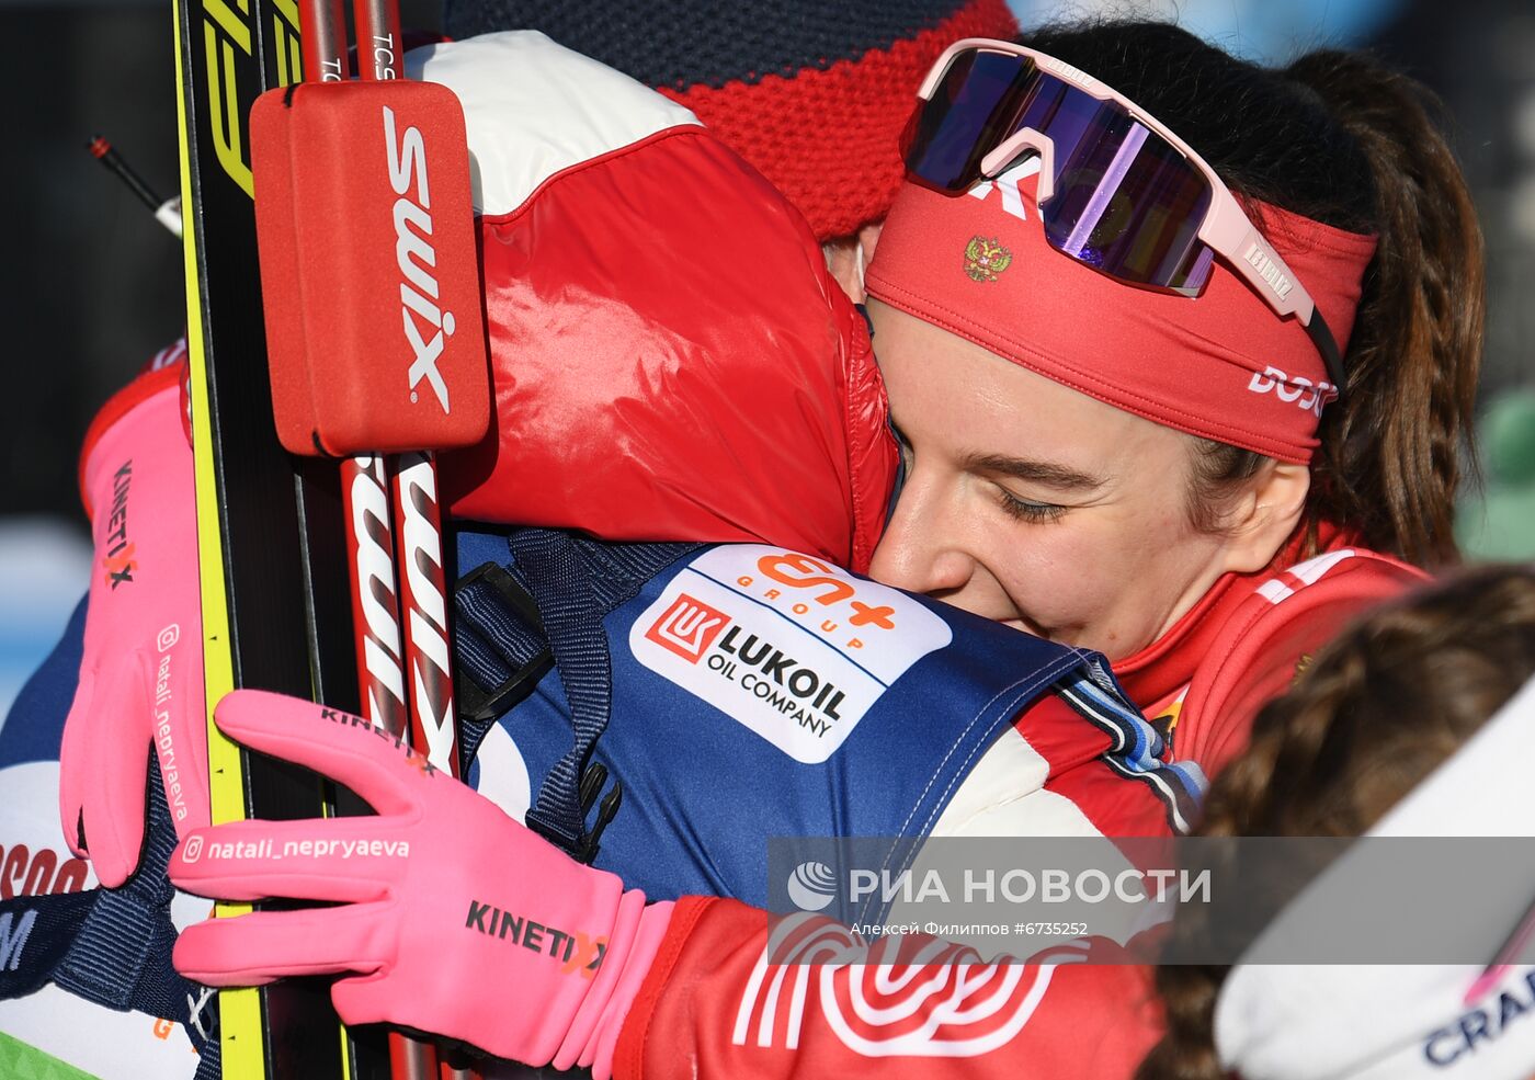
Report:
M496 425L444 457L453 511L866 568L896 449L800 213L686 109L542 34L410 61L464 103L484 244Z

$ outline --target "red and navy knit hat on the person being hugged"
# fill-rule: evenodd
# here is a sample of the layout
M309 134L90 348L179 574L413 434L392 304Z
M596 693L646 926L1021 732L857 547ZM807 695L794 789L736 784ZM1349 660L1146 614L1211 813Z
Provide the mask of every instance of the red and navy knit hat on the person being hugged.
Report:
M660 89L827 239L890 209L901 129L938 54L1018 23L1005 0L448 0L445 29L543 31Z

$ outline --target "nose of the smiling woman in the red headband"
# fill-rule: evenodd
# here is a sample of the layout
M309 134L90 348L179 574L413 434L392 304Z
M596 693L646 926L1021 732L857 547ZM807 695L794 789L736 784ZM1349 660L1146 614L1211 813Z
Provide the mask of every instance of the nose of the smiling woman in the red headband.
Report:
M975 560L958 542L956 515L946 503L942 486L921 469L909 477L873 549L869 577L932 597L962 589L975 574Z

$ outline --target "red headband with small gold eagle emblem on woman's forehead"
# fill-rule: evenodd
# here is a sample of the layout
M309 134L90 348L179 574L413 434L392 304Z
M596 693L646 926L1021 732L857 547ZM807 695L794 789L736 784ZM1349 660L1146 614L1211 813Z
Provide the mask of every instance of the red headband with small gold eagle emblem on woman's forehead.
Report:
M1053 250L1035 176L1022 172L958 198L904 184L869 295L1127 413L1309 462L1331 384L1305 327L1274 314L1219 259L1205 293L1188 299L1124 285ZM1346 354L1375 238L1266 202L1248 213Z

